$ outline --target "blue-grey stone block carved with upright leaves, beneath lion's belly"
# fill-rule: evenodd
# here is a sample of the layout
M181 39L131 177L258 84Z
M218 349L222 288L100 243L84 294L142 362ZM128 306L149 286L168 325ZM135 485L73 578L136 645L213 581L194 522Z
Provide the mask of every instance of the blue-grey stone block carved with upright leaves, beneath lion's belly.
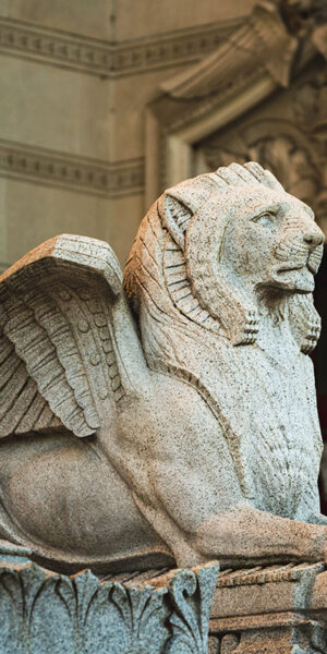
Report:
M1 654L207 654L217 564L99 581L1 556ZM8 550L8 547L5 548ZM13 554L19 554L13 558ZM123 576L122 576L123 577Z

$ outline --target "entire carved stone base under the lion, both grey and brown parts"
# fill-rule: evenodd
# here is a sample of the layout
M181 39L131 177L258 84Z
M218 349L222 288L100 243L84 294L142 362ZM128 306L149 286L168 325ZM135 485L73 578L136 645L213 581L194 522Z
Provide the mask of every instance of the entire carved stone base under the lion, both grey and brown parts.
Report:
M99 579L4 554L0 652L326 654L327 570L302 564L219 574L209 564Z

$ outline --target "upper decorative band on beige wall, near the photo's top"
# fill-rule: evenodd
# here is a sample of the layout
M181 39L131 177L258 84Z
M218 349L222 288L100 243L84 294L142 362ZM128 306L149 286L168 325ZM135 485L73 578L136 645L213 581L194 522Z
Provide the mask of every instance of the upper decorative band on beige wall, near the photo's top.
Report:
M241 19L142 39L106 40L0 17L0 52L101 77L193 63L226 39Z

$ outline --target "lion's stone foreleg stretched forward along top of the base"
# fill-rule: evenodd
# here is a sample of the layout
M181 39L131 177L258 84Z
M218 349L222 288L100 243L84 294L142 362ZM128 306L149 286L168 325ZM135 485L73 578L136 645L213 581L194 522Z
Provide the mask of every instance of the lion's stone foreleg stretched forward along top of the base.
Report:
M153 470L156 500L140 508L178 566L210 559L225 567L327 560L326 526L255 509L239 498L237 485L228 486L226 470L217 470L216 485L201 474L198 460L196 471L177 458L157 461Z

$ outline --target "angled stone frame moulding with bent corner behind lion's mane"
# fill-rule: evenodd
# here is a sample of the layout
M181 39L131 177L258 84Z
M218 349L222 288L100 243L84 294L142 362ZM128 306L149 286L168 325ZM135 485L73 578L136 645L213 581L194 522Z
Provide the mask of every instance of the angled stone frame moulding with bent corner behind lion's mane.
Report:
M193 174L193 146L268 97L276 83L262 66L231 78L222 93L180 100L162 94L146 112L145 205ZM187 110L185 110L185 108ZM155 171L155 174L154 174Z

